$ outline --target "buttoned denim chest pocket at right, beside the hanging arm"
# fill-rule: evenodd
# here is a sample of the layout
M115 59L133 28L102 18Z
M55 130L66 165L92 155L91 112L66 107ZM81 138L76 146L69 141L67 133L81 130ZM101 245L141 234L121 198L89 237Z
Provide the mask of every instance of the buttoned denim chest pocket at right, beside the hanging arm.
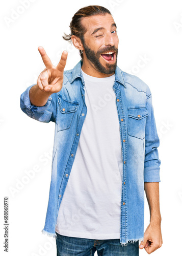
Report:
M127 133L130 136L144 139L145 125L148 116L146 108L128 109L128 127Z

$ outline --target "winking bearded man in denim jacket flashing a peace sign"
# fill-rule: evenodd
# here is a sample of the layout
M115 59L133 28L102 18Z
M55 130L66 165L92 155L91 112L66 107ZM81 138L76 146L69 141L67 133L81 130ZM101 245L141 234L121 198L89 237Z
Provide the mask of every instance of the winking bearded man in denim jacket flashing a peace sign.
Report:
M46 68L21 95L24 113L56 125L42 232L56 236L57 255L135 256L143 247L150 254L163 243L150 89L117 66L119 39L108 9L80 9L70 29L63 38L80 50L81 61L64 71L66 51L54 67L38 47Z

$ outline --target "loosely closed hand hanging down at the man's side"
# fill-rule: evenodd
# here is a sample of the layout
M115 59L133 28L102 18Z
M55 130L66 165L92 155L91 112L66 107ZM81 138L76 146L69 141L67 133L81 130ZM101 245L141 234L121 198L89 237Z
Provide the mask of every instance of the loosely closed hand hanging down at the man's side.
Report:
M145 248L146 252L151 252L160 248L163 244L161 225L157 223L150 223L144 233L144 241L140 243L139 248ZM142 245L142 247L141 247Z

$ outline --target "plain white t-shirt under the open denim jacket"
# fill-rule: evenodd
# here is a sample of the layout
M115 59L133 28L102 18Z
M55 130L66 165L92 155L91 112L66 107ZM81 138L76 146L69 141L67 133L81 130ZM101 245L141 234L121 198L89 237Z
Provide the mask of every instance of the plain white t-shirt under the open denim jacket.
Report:
M56 231L63 236L119 239L122 149L115 74L85 74L87 115L60 204Z

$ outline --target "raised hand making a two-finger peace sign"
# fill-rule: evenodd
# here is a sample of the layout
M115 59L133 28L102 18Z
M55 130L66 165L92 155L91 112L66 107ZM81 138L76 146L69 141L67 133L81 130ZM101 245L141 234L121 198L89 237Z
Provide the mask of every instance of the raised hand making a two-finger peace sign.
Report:
M66 66L67 51L63 51L57 67L53 66L42 46L38 47L39 53L45 65L45 69L40 73L37 79L37 86L41 91L48 93L57 93L63 85L63 74Z

